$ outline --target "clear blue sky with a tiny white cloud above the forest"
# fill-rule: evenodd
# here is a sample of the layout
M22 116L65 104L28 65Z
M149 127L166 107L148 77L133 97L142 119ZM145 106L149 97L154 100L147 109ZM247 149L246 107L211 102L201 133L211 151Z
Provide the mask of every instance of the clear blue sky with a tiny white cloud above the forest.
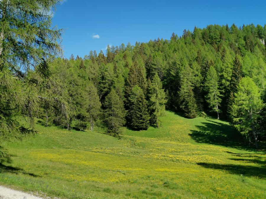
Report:
M53 14L53 26L63 28L64 56L84 57L90 50L105 52L106 46L132 45L172 32L208 24L266 23L266 1L105 1L64 0Z

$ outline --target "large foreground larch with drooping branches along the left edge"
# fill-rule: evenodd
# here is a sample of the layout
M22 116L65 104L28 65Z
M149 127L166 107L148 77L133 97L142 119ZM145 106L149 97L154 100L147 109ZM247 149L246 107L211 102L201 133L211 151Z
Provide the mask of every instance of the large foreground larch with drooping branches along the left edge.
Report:
M34 133L38 93L23 82L25 73L61 52L61 30L51 28L58 0L0 1L0 142ZM30 128L18 116L26 116ZM0 162L9 155L0 148Z

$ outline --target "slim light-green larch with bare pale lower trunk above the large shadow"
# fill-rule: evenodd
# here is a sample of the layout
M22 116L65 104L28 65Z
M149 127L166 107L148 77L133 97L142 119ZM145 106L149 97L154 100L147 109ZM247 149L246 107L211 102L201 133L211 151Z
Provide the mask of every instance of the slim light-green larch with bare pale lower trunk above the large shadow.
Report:
M207 91L206 101L209 103L211 111L217 113L217 119L219 119L219 106L223 97L218 87L218 75L214 67L210 67L206 75L205 90Z

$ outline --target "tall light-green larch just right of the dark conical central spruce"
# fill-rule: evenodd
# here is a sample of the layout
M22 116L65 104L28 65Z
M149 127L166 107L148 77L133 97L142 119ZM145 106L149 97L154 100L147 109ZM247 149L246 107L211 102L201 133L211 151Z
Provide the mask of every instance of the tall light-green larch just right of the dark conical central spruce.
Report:
M160 116L164 114L165 103L165 92L162 83L158 74L155 74L149 88L148 108L151 114L151 124L156 124L157 127L160 126Z

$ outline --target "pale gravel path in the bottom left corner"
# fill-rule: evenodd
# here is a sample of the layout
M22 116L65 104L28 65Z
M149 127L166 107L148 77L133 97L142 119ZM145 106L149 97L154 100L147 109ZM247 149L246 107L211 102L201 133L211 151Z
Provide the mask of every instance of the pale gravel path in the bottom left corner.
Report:
M31 195L29 193L23 193L10 188L0 186L0 198L1 199L42 199Z

